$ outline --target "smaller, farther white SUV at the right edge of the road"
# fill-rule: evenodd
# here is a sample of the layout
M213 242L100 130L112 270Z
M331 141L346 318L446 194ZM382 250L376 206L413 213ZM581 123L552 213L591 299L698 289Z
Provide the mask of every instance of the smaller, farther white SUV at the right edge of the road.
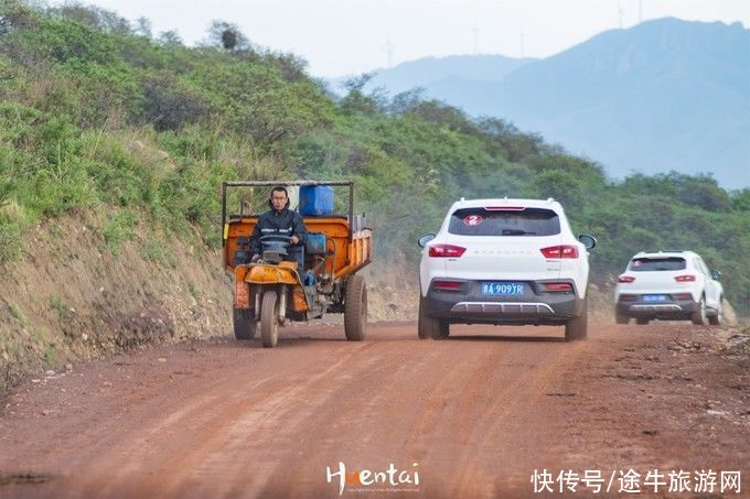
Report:
M724 299L719 275L693 251L638 253L614 288L615 321L690 319L718 326Z

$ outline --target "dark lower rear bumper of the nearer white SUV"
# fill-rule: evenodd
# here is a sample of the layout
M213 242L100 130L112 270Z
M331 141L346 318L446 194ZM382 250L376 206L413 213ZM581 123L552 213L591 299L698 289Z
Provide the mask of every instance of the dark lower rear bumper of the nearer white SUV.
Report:
M430 285L424 305L432 317L454 324L565 324L581 313L583 300L574 292L543 292L545 281L526 281L522 296L483 295L482 282L461 281L459 291ZM555 281L560 282L560 281Z

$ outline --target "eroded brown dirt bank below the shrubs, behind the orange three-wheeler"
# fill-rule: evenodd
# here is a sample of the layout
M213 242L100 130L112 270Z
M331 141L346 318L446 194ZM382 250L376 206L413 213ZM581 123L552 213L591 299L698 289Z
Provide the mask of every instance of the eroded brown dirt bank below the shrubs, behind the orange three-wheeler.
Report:
M232 332L219 250L146 225L115 245L111 227L107 214L42 221L21 260L0 265L0 395L47 370ZM416 274L365 275L372 319L416 317Z

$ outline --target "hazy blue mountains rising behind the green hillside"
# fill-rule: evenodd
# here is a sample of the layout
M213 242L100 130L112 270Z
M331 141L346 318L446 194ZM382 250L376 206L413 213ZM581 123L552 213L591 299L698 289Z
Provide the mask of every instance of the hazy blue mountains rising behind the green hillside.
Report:
M750 30L740 23L660 19L537 61L420 59L374 86L421 86L471 115L510 119L615 177L710 172L750 186Z

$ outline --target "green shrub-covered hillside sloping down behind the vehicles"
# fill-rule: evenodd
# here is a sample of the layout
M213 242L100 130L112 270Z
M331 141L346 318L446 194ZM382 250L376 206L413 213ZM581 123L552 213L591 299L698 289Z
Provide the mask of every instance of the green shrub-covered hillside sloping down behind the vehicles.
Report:
M139 227L216 248L222 180L353 177L377 265L414 264L417 236L460 196L551 196L599 238L596 283L639 249L694 249L750 312L748 189L679 173L613 183L506 121L365 94L364 80L334 98L293 55L242 35L224 48L231 25L185 47L94 8L2 6L0 264L33 256L38 220L92 210L114 254Z

